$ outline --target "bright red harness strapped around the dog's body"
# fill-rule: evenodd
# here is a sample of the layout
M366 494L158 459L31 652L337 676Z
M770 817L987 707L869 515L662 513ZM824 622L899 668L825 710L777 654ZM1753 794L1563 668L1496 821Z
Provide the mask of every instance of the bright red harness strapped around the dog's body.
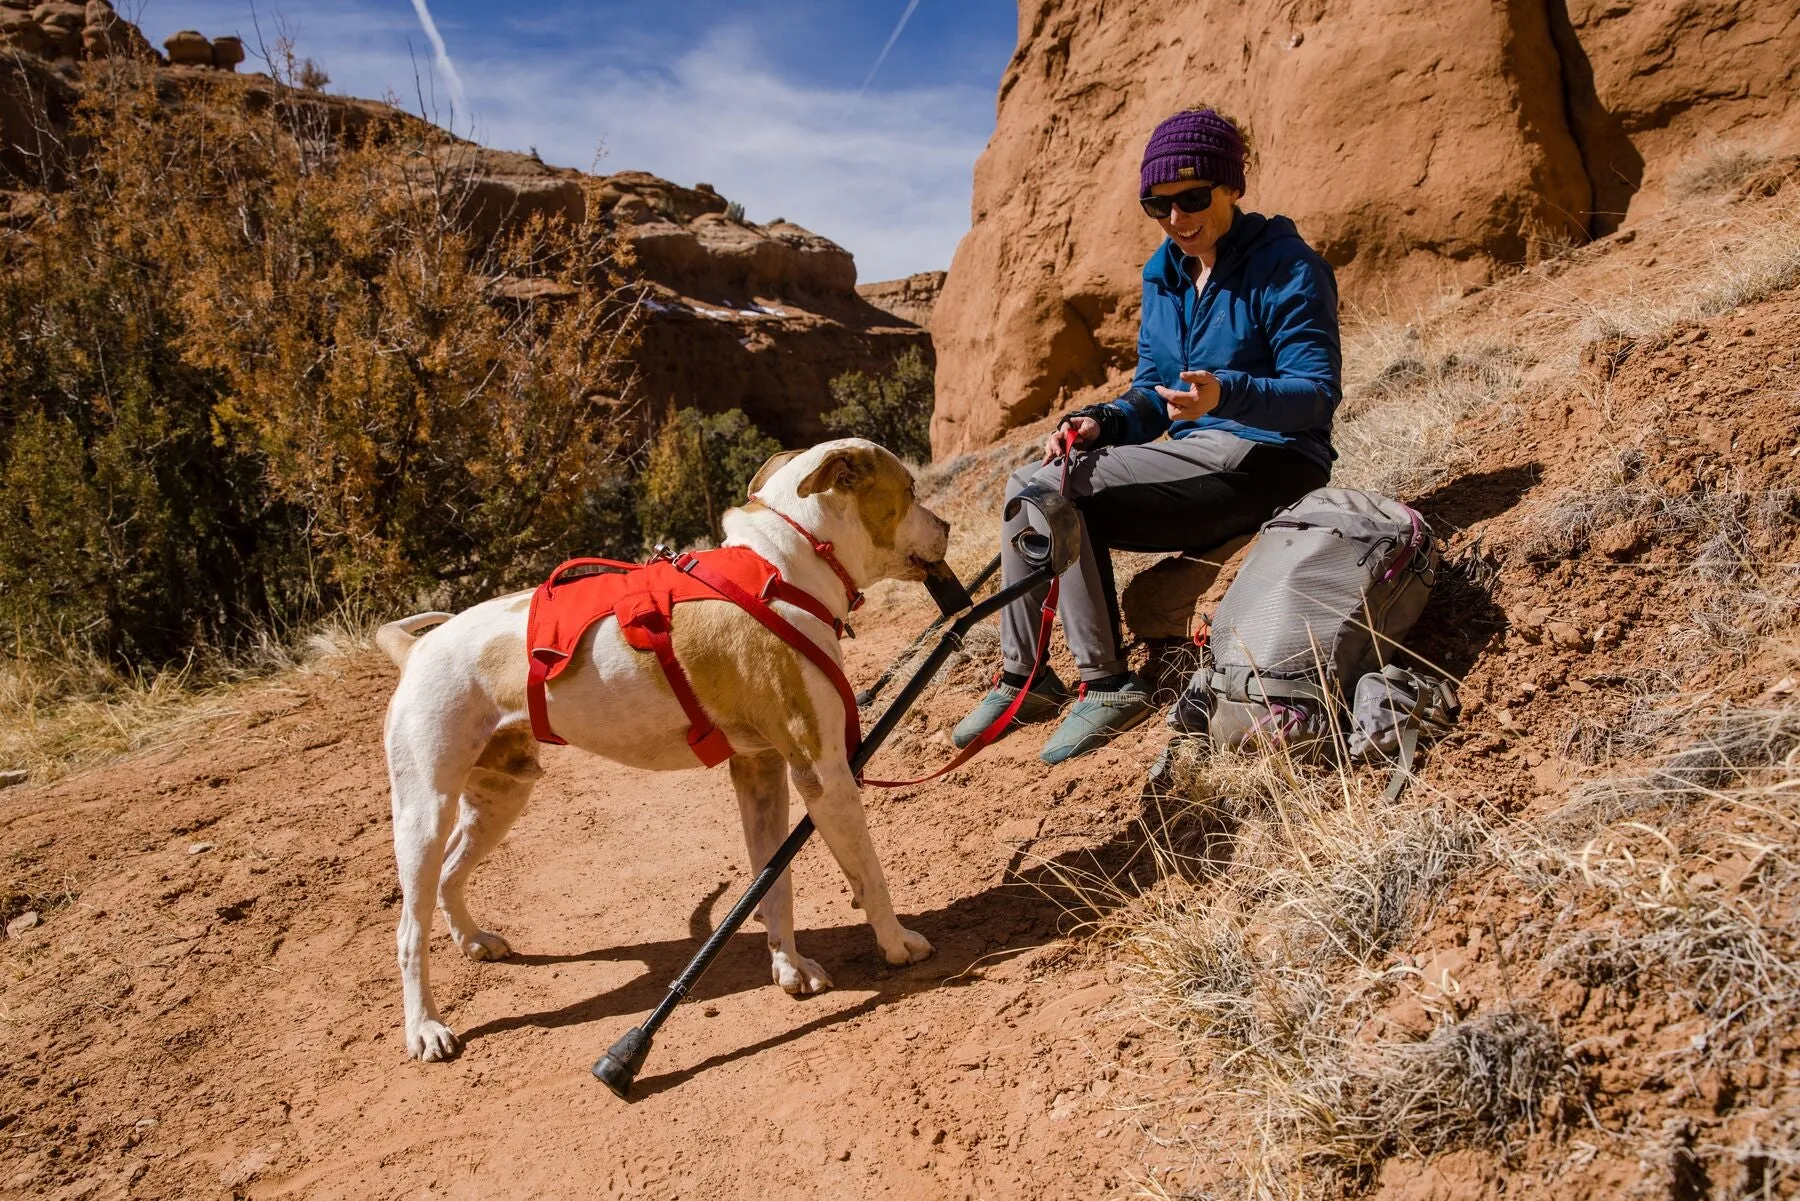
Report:
M848 576L830 553L832 544L819 542L812 535L806 535L806 542L846 580L851 607L860 603L862 596L848 583ZM668 677L675 700L688 715L688 745L700 763L713 767L731 758L731 742L700 708L700 699L693 693L688 672L675 659L675 646L670 641L671 610L682 601L697 600L733 601L824 672L844 700L844 731L850 749L855 751L862 729L850 681L832 655L770 609L769 601L787 601L805 610L832 627L839 637L844 636L844 623L833 618L819 598L783 580L769 560L742 546L657 558L648 564L571 558L553 571L551 578L531 594L531 614L526 619L526 646L531 659L526 709L531 713L531 735L538 742L563 744L551 729L545 684L569 666L590 625L616 616L625 641L637 650L652 652L662 664L662 675Z

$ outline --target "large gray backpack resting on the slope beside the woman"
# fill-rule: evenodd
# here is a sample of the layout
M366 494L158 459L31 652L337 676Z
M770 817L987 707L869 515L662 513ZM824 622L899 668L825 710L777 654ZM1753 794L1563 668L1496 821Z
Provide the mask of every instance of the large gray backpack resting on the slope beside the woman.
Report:
M1341 749L1339 713L1418 619L1442 546L1411 508L1319 488L1264 522L1168 724L1231 749Z

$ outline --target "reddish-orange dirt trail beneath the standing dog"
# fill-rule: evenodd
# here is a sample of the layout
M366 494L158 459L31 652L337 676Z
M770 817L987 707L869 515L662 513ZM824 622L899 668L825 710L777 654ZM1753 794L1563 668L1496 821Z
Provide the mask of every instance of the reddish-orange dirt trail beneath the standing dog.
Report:
M853 679L927 616L907 601L866 618ZM243 695L187 745L5 798L9 879L45 920L0 944L0 1194L1093 1197L1127 1183L1136 1125L1105 1102L1143 1032L1109 1016L1116 989L1057 942L1067 917L1024 877L1040 855L1123 844L1120 785L1154 740L1080 778L1015 740L979 790L873 794L898 906L936 956L886 969L810 846L801 945L837 989L787 998L760 927L740 935L626 1106L587 1066L747 882L725 774L551 749L472 889L517 954L464 962L439 924L434 983L468 1043L418 1064L392 956L391 686L378 655L340 659ZM923 724L941 729L961 700L945 691Z

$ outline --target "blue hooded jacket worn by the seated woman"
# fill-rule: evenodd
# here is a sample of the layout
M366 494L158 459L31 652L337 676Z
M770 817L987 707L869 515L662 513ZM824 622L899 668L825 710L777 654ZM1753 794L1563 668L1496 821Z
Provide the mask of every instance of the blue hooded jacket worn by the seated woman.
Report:
M1183 371L1219 376L1219 407L1170 425L1156 385L1184 391ZM1132 391L1105 405L1118 443L1147 443L1168 430L1228 430L1292 447L1327 472L1332 412L1343 396L1337 281L1285 216L1238 212L1219 241L1204 290L1195 290L1174 241L1143 265L1143 317Z

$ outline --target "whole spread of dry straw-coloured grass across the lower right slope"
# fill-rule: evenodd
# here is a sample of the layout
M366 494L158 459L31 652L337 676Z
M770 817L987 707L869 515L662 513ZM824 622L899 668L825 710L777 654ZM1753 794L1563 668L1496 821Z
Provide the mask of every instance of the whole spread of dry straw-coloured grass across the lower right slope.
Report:
M1701 1021L1690 1062L1773 1055L1800 1023L1796 780L1800 709L1701 720L1652 772L1613 781L1607 801L1595 790L1579 821L1541 825L1489 825L1417 792L1390 807L1373 778L1190 744L1150 821L1165 879L1105 933L1139 1010L1186 1044L1208 1107L1255 1131L1249 1145L1193 1136L1195 1160L1229 1165L1244 1196L1316 1196L1370 1183L1391 1156L1485 1147L1505 1160L1580 1113L1588 1086L1528 1003L1467 1014L1440 996L1429 1035L1370 1037L1393 1005L1433 996L1395 951L1481 880L1512 880L1539 915L1512 953L1517 996L1571 978L1672 998ZM1616 803L1640 796L1652 799ZM1676 819L1703 816L1697 805L1757 828L1683 844ZM1652 814L1669 828L1638 821ZM1696 825L1730 826L1715 817ZM1757 1140L1694 1154L1786 1170L1773 1133Z

